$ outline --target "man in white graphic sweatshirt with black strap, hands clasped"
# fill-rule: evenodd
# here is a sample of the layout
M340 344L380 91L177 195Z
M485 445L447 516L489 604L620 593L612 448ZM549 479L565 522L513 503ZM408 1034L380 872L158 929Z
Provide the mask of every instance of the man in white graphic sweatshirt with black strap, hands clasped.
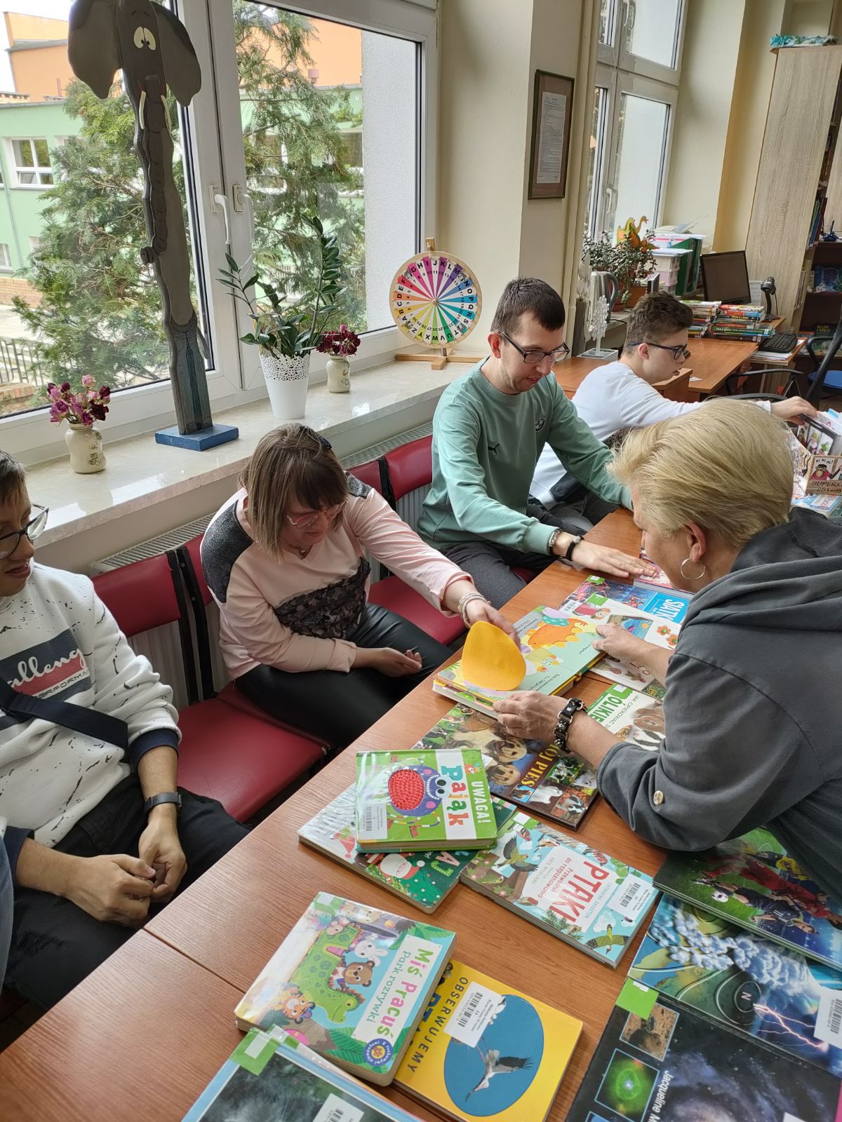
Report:
M48 1008L246 828L179 790L172 691L86 577L33 561L46 518L0 452L0 835L15 896L6 983ZM8 893L0 912L1 936Z

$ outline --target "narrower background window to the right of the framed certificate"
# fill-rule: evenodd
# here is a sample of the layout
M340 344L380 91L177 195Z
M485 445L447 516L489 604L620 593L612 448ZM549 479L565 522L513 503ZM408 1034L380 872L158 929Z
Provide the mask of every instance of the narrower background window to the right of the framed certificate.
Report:
M601 0L586 231L660 218L685 0Z

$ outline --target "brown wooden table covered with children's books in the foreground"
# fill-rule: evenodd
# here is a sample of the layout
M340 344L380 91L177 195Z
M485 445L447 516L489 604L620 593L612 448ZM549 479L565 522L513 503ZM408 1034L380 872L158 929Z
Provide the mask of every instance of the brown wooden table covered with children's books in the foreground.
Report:
M632 553L640 545L625 511L611 515L588 537ZM584 576L553 564L504 611L516 619L537 604L556 606ZM587 675L576 693L591 702L605 687ZM232 1010L238 995L318 891L412 912L377 885L300 845L296 830L353 781L355 749L409 747L450 705L428 684L419 686L0 1055L0 1118L57 1119L61 1097L63 1120L180 1119L237 1043ZM660 850L635 837L602 799L576 837L647 873L661 863ZM466 885L455 889L432 922L456 931L457 957L584 1022L549 1114L561 1122L641 936L614 971ZM135 1113L138 1095L143 1109ZM406 1105L397 1093L388 1095ZM115 1105L125 1102L131 1110ZM419 1105L409 1109L419 1118L434 1118Z

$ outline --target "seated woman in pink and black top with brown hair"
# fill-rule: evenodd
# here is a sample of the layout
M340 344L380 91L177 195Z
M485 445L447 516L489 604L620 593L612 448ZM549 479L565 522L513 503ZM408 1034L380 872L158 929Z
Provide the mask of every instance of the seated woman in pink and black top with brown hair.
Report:
M228 671L273 716L345 746L448 657L367 603L366 552L466 627L484 619L511 632L470 577L347 475L306 425L267 433L240 485L208 526L202 568Z

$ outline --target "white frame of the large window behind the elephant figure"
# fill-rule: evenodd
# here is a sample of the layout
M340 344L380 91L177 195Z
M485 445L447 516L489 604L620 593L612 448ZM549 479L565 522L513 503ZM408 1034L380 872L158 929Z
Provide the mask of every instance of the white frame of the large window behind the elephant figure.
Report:
M309 0L309 2L274 2L272 7L285 8L312 18L330 19L365 30L410 39L418 44L417 113L415 113L415 182L417 222L415 251L423 245L423 236L436 230L437 130L438 130L438 43L434 6L429 0ZM225 18L230 27L232 18L227 2L204 0L186 3L174 0L172 8L185 24L202 70L202 89L187 109L180 107L180 123L185 160L190 163L187 180L187 209L190 213L194 250L196 288L205 311L204 328L209 337L212 364L208 369L208 392L214 415L226 408L265 398L256 347L239 342L239 335L250 330L240 309L234 304L216 280L217 269L225 261L225 214L217 206L212 210L212 194L226 196L231 231L231 252L245 259L250 239L248 203L234 205L234 191L245 186L245 166L241 145L239 158L231 148L239 142L239 104L235 98L225 98L225 89L238 89L237 59L234 37L225 34ZM219 44L225 43L226 48ZM216 48L216 49L214 49ZM223 83L228 82L226 86ZM230 83L234 82L234 85ZM231 136L232 121L236 129ZM33 139L21 137L20 139ZM35 138L42 139L42 138ZM9 141L7 141L9 142ZM10 167L17 167L13 150ZM55 176L55 173L53 173ZM45 185L47 186L47 185ZM211 190L213 188L213 190ZM45 190L24 185L18 190ZM139 263L138 263L139 267ZM358 369L387 361L395 350L409 346L394 325L366 332L355 364ZM313 352L311 384L326 379L327 356ZM64 452L63 426L49 424L47 407L0 417L0 448L25 463L37 463L62 456ZM103 429L107 442L122 440L175 421L170 379L145 386L131 386L115 393L108 422Z

